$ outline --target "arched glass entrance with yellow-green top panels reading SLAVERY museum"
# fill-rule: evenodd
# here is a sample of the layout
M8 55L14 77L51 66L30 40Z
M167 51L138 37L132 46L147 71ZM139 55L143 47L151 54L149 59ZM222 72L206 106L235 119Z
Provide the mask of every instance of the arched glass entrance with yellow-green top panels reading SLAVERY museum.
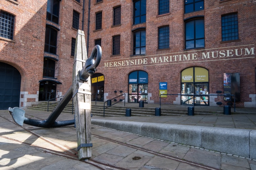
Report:
M209 106L209 72L190 67L181 72L181 104Z

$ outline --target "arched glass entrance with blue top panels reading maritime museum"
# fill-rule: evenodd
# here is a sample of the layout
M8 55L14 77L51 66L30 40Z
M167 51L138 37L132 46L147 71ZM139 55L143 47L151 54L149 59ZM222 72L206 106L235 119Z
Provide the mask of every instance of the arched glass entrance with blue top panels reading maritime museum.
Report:
M148 73L144 71L134 71L129 74L128 102L148 103Z

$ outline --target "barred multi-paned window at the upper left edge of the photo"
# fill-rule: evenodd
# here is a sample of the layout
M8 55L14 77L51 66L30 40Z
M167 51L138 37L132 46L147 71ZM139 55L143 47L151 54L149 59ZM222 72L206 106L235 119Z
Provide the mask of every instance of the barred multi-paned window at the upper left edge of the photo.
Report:
M0 11L0 37L13 40L14 15Z

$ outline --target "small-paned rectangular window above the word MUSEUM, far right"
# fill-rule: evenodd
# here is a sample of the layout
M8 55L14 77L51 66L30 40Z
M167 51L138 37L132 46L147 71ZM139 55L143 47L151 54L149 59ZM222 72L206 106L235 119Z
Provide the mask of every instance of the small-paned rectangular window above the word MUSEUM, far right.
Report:
M237 13L227 14L221 17L222 41L238 40Z

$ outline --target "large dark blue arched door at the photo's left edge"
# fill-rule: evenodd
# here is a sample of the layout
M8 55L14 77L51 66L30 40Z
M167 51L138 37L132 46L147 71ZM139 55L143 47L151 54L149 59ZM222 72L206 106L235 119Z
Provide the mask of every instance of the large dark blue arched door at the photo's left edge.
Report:
M0 110L19 107L20 72L13 66L0 62Z

